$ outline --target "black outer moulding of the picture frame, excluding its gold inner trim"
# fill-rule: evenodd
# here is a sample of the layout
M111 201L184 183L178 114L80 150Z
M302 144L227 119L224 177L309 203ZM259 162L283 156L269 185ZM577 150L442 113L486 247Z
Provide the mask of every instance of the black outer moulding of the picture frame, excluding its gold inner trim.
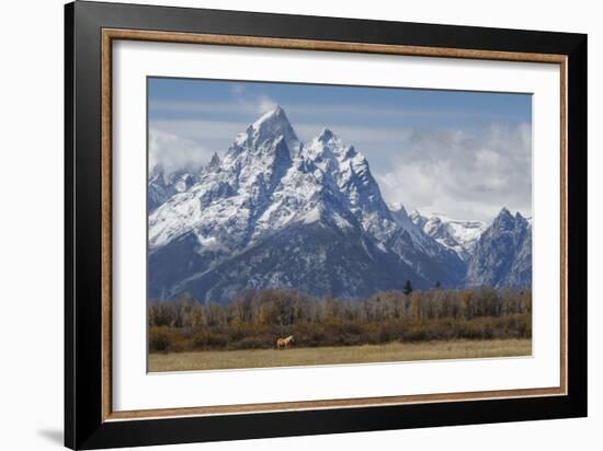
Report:
M567 56L568 394L103 421L101 30ZM587 416L587 35L77 1L65 7L65 444L99 449ZM571 201L570 201L571 200Z

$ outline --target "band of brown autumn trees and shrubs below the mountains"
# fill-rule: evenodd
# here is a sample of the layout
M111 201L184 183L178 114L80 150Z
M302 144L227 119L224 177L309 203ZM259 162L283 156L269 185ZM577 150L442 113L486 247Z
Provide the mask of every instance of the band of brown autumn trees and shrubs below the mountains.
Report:
M346 346L394 340L530 337L532 291L489 287L314 298L289 289L243 290L231 302L183 296L149 302L150 351Z

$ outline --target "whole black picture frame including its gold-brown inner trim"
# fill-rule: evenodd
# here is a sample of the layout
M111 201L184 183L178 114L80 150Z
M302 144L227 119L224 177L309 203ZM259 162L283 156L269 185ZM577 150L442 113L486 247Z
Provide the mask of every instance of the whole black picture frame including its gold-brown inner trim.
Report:
M65 444L236 440L587 415L587 36L184 8L65 10ZM146 410L112 408L112 43L116 39L560 66L560 385ZM572 200L570 203L570 200Z

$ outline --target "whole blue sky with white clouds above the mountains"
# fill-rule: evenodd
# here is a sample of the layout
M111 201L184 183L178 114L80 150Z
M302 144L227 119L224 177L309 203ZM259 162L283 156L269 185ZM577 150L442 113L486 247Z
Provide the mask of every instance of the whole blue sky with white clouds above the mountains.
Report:
M302 140L329 127L354 144L388 201L467 219L503 206L531 215L530 94L166 78L148 89L149 128L171 137L170 152L180 140L201 162L223 154L281 105Z

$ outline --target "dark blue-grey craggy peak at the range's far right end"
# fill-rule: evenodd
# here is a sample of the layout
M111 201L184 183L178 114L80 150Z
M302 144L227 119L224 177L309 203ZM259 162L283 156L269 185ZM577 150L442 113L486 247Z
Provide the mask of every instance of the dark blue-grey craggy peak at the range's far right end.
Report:
M531 287L532 222L503 208L477 242L466 285Z

